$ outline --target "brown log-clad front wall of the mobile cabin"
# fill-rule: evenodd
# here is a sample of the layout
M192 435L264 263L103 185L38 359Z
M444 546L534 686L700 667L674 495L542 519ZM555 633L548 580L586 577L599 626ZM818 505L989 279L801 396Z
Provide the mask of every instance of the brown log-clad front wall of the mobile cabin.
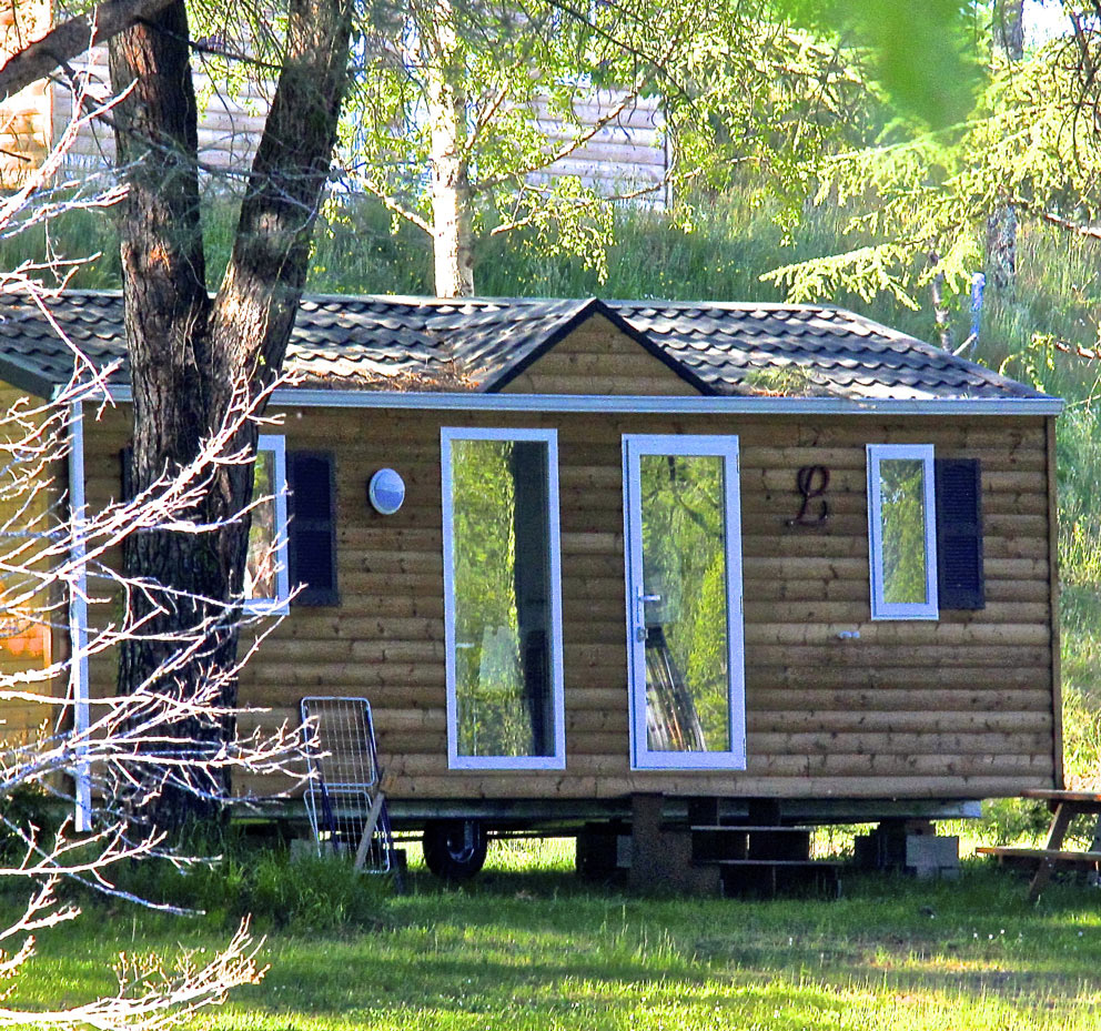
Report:
M244 727L296 718L307 694L366 695L395 798L613 797L632 791L774 797L1017 794L1055 777L1052 554L1042 418L285 413L289 448L336 454L341 604L293 608L245 673ZM89 431L90 499L118 491L121 415ZM558 429L564 771L448 771L440 428ZM633 772L628 761L624 433L738 434L748 769ZM987 606L935 621L869 620L865 445L930 443L982 462ZM834 517L789 527L797 471L831 472ZM384 517L364 484L405 477ZM859 629L859 639L840 639ZM97 690L113 673L99 664ZM241 785L271 794L275 785Z

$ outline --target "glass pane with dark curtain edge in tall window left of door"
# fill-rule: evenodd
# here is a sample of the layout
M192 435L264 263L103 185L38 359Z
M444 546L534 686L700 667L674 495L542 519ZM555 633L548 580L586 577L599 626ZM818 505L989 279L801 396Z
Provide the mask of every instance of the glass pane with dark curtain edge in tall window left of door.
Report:
M453 439L458 755L553 756L543 441Z

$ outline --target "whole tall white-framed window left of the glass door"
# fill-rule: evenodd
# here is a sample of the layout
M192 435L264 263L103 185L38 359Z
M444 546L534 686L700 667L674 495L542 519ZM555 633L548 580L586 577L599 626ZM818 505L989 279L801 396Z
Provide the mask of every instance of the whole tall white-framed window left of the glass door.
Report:
M452 768L562 769L553 429L443 429Z

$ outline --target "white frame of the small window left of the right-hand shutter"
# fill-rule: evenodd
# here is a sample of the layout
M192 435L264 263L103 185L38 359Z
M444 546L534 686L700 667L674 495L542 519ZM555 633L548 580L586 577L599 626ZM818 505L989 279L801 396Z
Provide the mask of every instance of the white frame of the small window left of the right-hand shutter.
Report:
M872 619L938 619L937 597L937 488L932 444L868 444L868 555L871 578ZM926 600L887 602L883 598L882 493L879 465L888 459L918 459L922 463Z

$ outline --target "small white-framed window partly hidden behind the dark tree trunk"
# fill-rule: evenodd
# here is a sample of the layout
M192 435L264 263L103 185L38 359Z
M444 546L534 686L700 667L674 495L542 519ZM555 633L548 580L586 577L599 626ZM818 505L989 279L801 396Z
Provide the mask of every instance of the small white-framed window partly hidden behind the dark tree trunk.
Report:
M244 608L283 614L290 596L286 570L286 454L283 437L261 435L252 481L252 525L244 568Z

